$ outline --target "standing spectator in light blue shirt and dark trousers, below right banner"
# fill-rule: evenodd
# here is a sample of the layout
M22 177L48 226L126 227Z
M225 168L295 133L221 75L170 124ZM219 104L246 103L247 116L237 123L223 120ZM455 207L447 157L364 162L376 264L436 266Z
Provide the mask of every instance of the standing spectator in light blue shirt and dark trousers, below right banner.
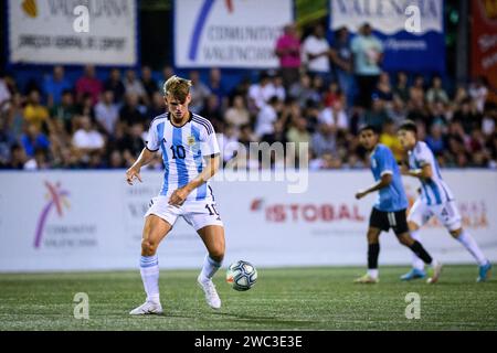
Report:
M383 60L383 44L373 35L369 23L362 24L358 35L351 42L355 55L356 79L359 86L359 106L371 106L371 94L378 83Z

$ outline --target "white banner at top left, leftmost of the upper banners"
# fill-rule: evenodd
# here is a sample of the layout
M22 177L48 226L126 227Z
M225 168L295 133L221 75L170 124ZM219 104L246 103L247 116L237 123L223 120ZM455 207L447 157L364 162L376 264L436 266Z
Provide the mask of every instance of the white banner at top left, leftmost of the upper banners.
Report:
M135 65L136 0L8 0L10 62Z

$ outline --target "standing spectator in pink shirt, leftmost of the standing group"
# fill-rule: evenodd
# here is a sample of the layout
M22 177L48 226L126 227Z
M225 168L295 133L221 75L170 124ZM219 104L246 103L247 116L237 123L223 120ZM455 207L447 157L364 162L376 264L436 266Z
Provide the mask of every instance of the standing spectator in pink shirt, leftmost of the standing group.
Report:
M283 29L283 35L277 39L276 56L279 58L279 68L283 77L283 85L286 89L296 82L300 71L300 39L295 24L287 24Z

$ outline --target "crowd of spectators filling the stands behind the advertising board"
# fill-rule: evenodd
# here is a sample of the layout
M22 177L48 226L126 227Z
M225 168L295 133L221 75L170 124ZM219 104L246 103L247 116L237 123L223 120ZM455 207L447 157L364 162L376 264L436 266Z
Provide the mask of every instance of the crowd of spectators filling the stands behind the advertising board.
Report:
M485 79L447 92L436 75L383 72L382 44L368 24L353 40L346 28L332 44L325 34L316 25L300 39L287 25L275 45L279 69L230 89L219 68L204 81L198 71L189 72L190 110L211 120L222 146L308 146L315 170L367 165L356 136L362 124L376 126L381 142L402 160L395 129L405 119L417 124L442 167L497 168L497 106L487 101ZM101 79L88 65L72 82L63 66L54 66L27 87L18 86L15 75L1 75L0 169L129 167L144 148L150 120L166 110L162 85L173 74L170 66L160 79L149 66L113 68ZM224 150L224 162L236 156L240 147ZM285 160L272 158L269 167L278 164ZM159 156L151 165L161 168ZM255 159L243 168L261 165Z

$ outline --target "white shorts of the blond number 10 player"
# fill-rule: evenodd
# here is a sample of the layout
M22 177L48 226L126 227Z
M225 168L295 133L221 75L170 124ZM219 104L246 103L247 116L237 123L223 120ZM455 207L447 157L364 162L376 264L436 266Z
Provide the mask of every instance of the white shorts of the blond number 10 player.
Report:
M154 214L173 226L176 220L181 216L195 231L208 225L223 226L215 202L212 199L186 201L181 206L170 205L168 201L169 196L157 196L150 200L150 207L144 217Z

